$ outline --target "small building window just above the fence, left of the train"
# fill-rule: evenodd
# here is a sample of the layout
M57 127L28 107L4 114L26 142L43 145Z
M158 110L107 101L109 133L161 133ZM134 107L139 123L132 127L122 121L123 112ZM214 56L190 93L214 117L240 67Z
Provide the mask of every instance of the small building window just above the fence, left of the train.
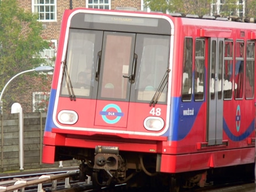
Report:
M49 92L33 93L33 112L46 112L49 103Z

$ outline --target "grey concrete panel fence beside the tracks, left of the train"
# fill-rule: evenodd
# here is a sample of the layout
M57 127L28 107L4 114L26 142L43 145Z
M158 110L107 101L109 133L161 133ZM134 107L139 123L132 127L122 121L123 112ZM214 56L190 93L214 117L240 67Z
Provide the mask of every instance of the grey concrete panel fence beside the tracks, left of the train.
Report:
M55 164L41 162L45 119L45 112L23 113L22 120L19 119L18 113L1 116L0 172L79 166L80 162L75 160L56 162ZM23 122L23 142L19 140L19 122ZM23 146L20 146L21 143ZM21 156L23 156L22 159Z

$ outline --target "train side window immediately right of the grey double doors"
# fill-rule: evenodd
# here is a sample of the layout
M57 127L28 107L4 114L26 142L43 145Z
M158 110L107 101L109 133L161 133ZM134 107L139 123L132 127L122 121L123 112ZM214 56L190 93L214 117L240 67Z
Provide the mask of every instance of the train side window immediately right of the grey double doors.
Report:
M224 99L232 98L232 76L233 76L233 41L225 41L224 55Z

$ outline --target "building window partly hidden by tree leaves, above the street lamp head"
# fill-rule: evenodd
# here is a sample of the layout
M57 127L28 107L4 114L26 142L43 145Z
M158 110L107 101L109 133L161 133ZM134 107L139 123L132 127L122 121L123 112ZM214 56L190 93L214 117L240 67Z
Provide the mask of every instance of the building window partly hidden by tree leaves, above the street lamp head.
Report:
M41 58L45 58L47 65L54 66L56 56L57 40L51 40L49 42L49 49L44 49L41 54Z

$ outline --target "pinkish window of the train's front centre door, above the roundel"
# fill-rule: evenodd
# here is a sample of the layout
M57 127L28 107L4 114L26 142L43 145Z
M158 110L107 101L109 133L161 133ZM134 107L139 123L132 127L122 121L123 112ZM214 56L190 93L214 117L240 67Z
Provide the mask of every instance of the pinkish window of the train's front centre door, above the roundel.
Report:
M104 33L98 98L129 101L134 41L135 34Z

